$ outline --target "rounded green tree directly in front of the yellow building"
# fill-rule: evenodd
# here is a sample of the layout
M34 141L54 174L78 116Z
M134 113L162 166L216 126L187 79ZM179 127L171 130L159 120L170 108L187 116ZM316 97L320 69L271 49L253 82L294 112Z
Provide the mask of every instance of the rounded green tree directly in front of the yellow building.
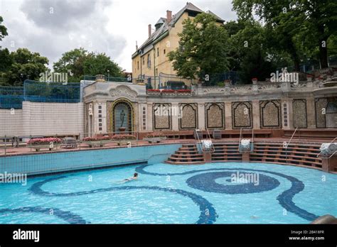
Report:
M228 33L208 13L183 21L179 48L168 54L177 75L189 79L228 70Z

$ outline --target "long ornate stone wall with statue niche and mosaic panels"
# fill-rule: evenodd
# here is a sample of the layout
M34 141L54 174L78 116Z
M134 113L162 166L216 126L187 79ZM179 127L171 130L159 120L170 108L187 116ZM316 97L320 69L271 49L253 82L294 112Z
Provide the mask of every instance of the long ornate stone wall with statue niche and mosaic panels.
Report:
M84 89L85 131L337 128L336 87L323 82L257 82L151 92L144 85L95 82Z

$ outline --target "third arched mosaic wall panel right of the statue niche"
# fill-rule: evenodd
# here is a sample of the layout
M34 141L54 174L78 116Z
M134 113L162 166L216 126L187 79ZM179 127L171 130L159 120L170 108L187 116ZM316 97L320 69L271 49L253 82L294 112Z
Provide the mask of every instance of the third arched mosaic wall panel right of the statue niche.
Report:
M205 104L205 126L206 128L225 128L225 104Z

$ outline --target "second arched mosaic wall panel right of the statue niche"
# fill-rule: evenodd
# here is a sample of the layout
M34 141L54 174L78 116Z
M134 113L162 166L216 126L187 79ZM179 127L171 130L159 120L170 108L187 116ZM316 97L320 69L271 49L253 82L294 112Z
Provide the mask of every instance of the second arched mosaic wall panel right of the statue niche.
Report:
M198 104L178 104L181 109L181 118L179 119L179 129L198 128Z

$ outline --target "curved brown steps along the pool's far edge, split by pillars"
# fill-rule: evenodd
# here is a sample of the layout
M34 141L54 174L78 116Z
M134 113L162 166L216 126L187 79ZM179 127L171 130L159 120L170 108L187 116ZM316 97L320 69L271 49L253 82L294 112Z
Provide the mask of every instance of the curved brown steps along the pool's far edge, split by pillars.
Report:
M296 165L321 170L322 159L317 157L320 147L319 143L291 143L286 149L282 142L255 142L254 150L249 155L249 162ZM238 143L214 143L214 148L215 151L211 155L212 162L242 162ZM198 153L196 144L186 144L171 155L166 163L173 165L203 164L205 159L202 153Z

